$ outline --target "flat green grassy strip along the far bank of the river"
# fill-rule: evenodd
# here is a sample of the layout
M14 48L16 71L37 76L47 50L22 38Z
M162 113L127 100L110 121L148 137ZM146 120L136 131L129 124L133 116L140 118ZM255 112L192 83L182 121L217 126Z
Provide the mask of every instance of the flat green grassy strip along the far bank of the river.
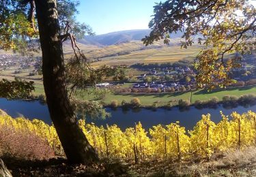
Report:
M207 101L212 97L217 97L219 101L223 100L223 97L227 95L236 95L240 97L241 95L248 95L256 93L256 86L242 86L242 87L230 87L223 89L216 89L214 91L198 90L186 93L111 93L106 92L100 97L96 93L87 93L83 91L76 95L78 99L83 100L94 100L102 102L103 105L108 106L111 104L111 101L116 100L118 103L122 103L123 100L130 101L135 97L139 98L141 101L141 106L143 107L152 107L153 104L156 104L157 107L166 106L171 101L188 100L190 104L195 103L195 101ZM44 95L44 88L42 84L35 84L34 95Z

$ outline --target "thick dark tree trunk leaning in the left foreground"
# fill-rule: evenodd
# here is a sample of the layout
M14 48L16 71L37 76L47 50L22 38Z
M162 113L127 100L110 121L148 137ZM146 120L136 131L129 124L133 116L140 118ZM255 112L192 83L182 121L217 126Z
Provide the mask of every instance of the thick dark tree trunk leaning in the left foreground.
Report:
M42 48L44 91L53 125L71 163L96 163L98 156L79 129L68 99L56 0L35 0L35 10Z

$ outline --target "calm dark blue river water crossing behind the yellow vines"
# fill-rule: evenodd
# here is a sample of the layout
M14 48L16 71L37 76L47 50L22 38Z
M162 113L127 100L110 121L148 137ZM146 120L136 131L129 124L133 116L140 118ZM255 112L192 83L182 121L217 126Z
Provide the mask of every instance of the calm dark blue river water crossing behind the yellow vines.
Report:
M40 101L22 101L22 100L7 100L0 99L0 109L7 112L10 116L16 118L24 116L32 120L33 118L38 118L44 120L44 122L51 124L50 115L48 113L48 108L46 105L40 103ZM231 114L231 112L236 111L238 113L247 112L252 110L256 112L256 106L249 106L244 108L243 106L238 106L237 108L223 108L223 106L217 106L216 108L203 108L198 110L197 108L191 106L189 110L180 110L179 108L172 108L171 110L157 109L147 110L142 108L140 110L128 110L124 111L122 108L117 110L111 110L106 108L108 112L111 112L111 117L105 120L91 120L87 118L87 123L95 123L96 125L113 125L116 124L121 129L126 129L126 127L134 126L134 123L139 121L142 123L145 129L158 124L168 125L169 123L175 123L180 121L180 125L186 127L186 129L193 129L196 123L201 119L202 114L211 114L212 120L215 123L221 120L220 111L222 110L224 114Z

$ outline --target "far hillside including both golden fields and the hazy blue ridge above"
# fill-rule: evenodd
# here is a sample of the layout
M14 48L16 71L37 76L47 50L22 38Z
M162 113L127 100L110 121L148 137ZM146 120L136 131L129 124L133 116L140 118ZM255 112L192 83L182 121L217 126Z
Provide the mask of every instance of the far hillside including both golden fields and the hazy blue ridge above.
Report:
M94 66L169 63L180 59L195 58L199 51L197 45L188 49L180 48L182 33L171 35L172 39L169 45L158 41L150 46L145 46L141 39L149 33L150 29L141 29L86 36L85 39L79 39L78 46L86 57L94 62ZM63 43L63 52L66 59L72 56L73 49L69 41ZM12 54L12 52L0 50L0 54L5 53ZM41 53L35 53L35 57L39 56Z

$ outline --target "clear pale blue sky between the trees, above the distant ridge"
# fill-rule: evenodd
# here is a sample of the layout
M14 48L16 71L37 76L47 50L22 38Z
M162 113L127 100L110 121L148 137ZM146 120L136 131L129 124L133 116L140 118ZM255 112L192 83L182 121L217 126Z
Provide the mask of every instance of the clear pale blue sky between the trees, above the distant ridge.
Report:
M163 0L162 0L163 1ZM148 29L154 5L160 0L81 0L79 22L89 25L96 35L129 29ZM256 0L251 0L256 5Z

